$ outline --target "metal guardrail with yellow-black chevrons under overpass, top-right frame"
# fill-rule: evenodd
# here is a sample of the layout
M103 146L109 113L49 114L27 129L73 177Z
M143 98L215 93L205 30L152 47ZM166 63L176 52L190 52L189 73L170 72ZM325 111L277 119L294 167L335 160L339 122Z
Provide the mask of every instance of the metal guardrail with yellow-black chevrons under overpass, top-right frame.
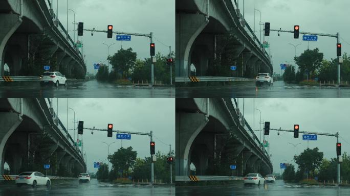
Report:
M236 77L176 77L175 82L236 82L236 81L254 81L249 78Z

